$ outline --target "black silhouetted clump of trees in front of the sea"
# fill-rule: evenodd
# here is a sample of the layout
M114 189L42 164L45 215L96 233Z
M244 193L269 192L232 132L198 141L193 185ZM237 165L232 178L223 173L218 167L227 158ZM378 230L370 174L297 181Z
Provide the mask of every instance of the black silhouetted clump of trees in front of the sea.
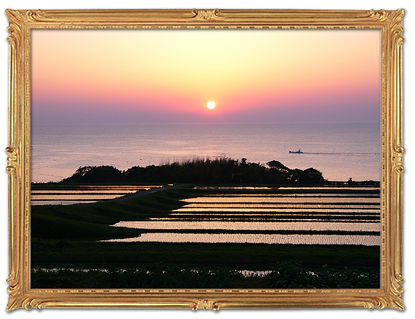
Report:
M189 184L323 184L315 168L291 169L273 160L266 165L246 158L194 158L159 166L133 166L120 171L113 166L82 166L61 183L189 183Z

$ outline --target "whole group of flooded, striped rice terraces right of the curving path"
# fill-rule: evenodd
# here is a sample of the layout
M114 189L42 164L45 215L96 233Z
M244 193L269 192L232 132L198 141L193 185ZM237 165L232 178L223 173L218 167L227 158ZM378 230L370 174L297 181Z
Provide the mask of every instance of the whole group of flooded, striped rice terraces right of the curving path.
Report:
M165 217L114 224L142 233L111 241L380 245L378 187L204 189Z

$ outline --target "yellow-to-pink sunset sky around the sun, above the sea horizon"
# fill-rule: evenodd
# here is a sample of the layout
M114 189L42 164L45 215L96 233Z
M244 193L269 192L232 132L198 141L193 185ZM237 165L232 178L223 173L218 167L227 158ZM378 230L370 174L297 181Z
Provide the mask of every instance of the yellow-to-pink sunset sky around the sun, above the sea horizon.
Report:
M32 30L32 120L378 121L380 36L380 30ZM216 107L207 108L208 101Z

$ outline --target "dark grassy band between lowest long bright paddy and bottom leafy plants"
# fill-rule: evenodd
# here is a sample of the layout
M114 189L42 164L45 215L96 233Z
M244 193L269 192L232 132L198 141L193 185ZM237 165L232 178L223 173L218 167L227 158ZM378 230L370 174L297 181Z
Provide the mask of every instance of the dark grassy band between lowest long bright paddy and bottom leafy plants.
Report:
M140 264L238 265L267 269L294 260L311 267L380 267L378 246L312 244L234 244L170 242L93 242L87 240L32 240L33 267L59 265L124 267Z

